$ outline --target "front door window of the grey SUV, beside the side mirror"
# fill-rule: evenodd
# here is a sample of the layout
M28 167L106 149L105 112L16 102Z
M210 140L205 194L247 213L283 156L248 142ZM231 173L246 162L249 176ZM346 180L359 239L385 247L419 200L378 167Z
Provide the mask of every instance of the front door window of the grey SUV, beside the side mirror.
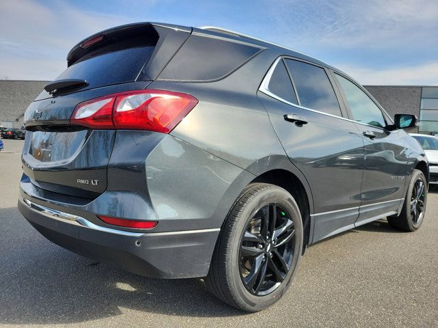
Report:
M348 81L348 79L338 74L335 74L335 76L344 90L353 119L381 128L385 127L386 122L383 118L383 113L374 101L372 101L365 92L359 89L355 83Z

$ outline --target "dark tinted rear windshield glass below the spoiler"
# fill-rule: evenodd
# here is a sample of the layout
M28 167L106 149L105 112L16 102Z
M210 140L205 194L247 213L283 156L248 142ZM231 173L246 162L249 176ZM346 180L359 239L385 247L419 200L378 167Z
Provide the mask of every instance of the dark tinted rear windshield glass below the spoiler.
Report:
M98 49L82 57L55 80L85 79L89 87L102 87L136 80L155 46L138 46L108 53Z

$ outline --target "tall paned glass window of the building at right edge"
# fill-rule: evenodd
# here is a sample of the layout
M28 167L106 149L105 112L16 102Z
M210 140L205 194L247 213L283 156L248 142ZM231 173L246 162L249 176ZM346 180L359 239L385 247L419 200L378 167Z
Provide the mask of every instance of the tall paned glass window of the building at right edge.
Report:
M438 87L422 87L420 133L438 133Z

